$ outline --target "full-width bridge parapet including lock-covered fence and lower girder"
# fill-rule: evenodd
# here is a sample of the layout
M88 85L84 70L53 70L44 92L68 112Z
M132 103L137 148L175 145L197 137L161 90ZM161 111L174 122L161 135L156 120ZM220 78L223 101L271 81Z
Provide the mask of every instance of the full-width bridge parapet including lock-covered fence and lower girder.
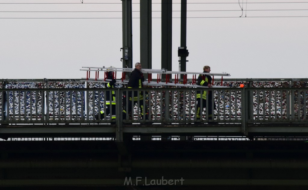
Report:
M215 80L217 85L219 80ZM239 88L239 84L245 84ZM197 91L204 88L148 87L143 89L115 88L116 121L106 113L106 95L111 91L102 83L83 83L71 80L6 80L0 90L0 125L4 128L35 126L33 133L80 132L104 133L116 136L129 134L244 134L268 132L271 135L298 133L308 134L307 80L277 79L228 79L224 86L212 88L212 100L207 105L216 107L213 117L203 109L197 118ZM30 87L30 88L29 88ZM88 88L85 88L88 87ZM148 96L138 99L148 107L149 118L141 117L135 104L132 115L128 110L128 95L137 91ZM133 92L132 92L133 93ZM209 95L209 93L208 93ZM202 105L202 103L201 103ZM202 106L201 106L202 107ZM113 107L110 107L112 112ZM202 108L201 108L202 110ZM95 118L95 116L97 116ZM46 128L46 126L48 127ZM83 128L81 127L89 127ZM100 127L104 126L104 130ZM92 128L91 128L92 127ZM141 127L141 128L140 128ZM14 127L13 127L14 128ZM16 129L16 127L14 128ZM41 131L39 131L41 129ZM43 130L46 129L46 130ZM78 129L78 130L76 130ZM21 130L21 129L20 129ZM10 130L12 132L13 130ZM14 130L18 131L18 130ZM29 131L29 130L28 130ZM1 132L1 133L2 133ZM21 130L21 133L26 131Z

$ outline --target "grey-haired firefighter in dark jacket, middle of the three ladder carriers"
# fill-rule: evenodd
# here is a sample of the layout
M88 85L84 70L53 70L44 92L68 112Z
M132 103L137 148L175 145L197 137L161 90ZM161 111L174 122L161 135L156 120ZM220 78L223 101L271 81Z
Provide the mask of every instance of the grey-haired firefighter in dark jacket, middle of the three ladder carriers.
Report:
M142 75L141 70L141 64L136 63L135 64L135 69L131 72L131 76L128 81L128 88L142 88L144 82L144 76ZM141 90L141 89L140 89ZM142 91L134 91L134 95L132 95L132 91L128 92L128 112L132 111L132 101L135 103L138 103L138 98L139 98L139 107L140 107L140 115L143 118L144 114L146 114L146 108L143 105L143 92ZM134 113L132 113L134 115ZM146 114L146 119L148 119L148 114Z

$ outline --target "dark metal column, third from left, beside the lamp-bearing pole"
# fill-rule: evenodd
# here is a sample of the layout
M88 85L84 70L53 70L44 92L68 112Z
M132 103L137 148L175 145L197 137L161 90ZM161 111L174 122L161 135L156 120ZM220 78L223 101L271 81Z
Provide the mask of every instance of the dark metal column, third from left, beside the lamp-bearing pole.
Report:
M161 68L172 71L172 0L161 1Z

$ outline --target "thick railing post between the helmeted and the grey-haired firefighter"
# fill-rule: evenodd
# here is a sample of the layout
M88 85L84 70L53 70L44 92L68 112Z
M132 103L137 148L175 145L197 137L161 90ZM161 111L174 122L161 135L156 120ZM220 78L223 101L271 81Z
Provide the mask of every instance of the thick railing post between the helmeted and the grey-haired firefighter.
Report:
M123 141L123 118L122 118L122 91L118 88L115 91L115 139Z

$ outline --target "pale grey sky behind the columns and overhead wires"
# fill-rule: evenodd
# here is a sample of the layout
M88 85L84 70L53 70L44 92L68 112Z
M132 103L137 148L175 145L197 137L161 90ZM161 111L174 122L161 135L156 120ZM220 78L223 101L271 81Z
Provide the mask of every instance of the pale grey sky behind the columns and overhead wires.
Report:
M1 4L7 2L76 4ZM120 0L83 0L83 2L81 4L79 0L0 0L0 78L78 79L86 75L79 71L83 66L122 67L120 12L3 12L121 11L121 4L87 4L121 3ZM139 11L137 4L139 1L132 2L133 11ZM159 2L152 0L152 11L160 11ZM173 0L172 71L179 71L177 48L180 46L180 12L176 12L180 10L180 4L176 4L178 2L180 0ZM189 51L187 71L201 72L204 65L209 65L213 73L230 73L231 76L228 78L307 78L308 3L278 3L292 2L291 0L255 0L254 2L276 3L253 4L248 0L246 4L246 1L242 3L241 0L243 16L240 17L242 11L237 0L187 0L187 2L190 3L188 10L202 10L189 11L187 14L187 17L194 17L187 18ZM204 2L233 3L205 4ZM278 11L285 9L287 10ZM13 17L19 19L12 19ZM56 17L60 19L54 19ZM66 19L68 17L92 19ZM139 12L133 12L133 17L135 63L140 61ZM161 21L156 17L160 17L160 12L153 12L152 17L152 68L158 69L161 66Z

